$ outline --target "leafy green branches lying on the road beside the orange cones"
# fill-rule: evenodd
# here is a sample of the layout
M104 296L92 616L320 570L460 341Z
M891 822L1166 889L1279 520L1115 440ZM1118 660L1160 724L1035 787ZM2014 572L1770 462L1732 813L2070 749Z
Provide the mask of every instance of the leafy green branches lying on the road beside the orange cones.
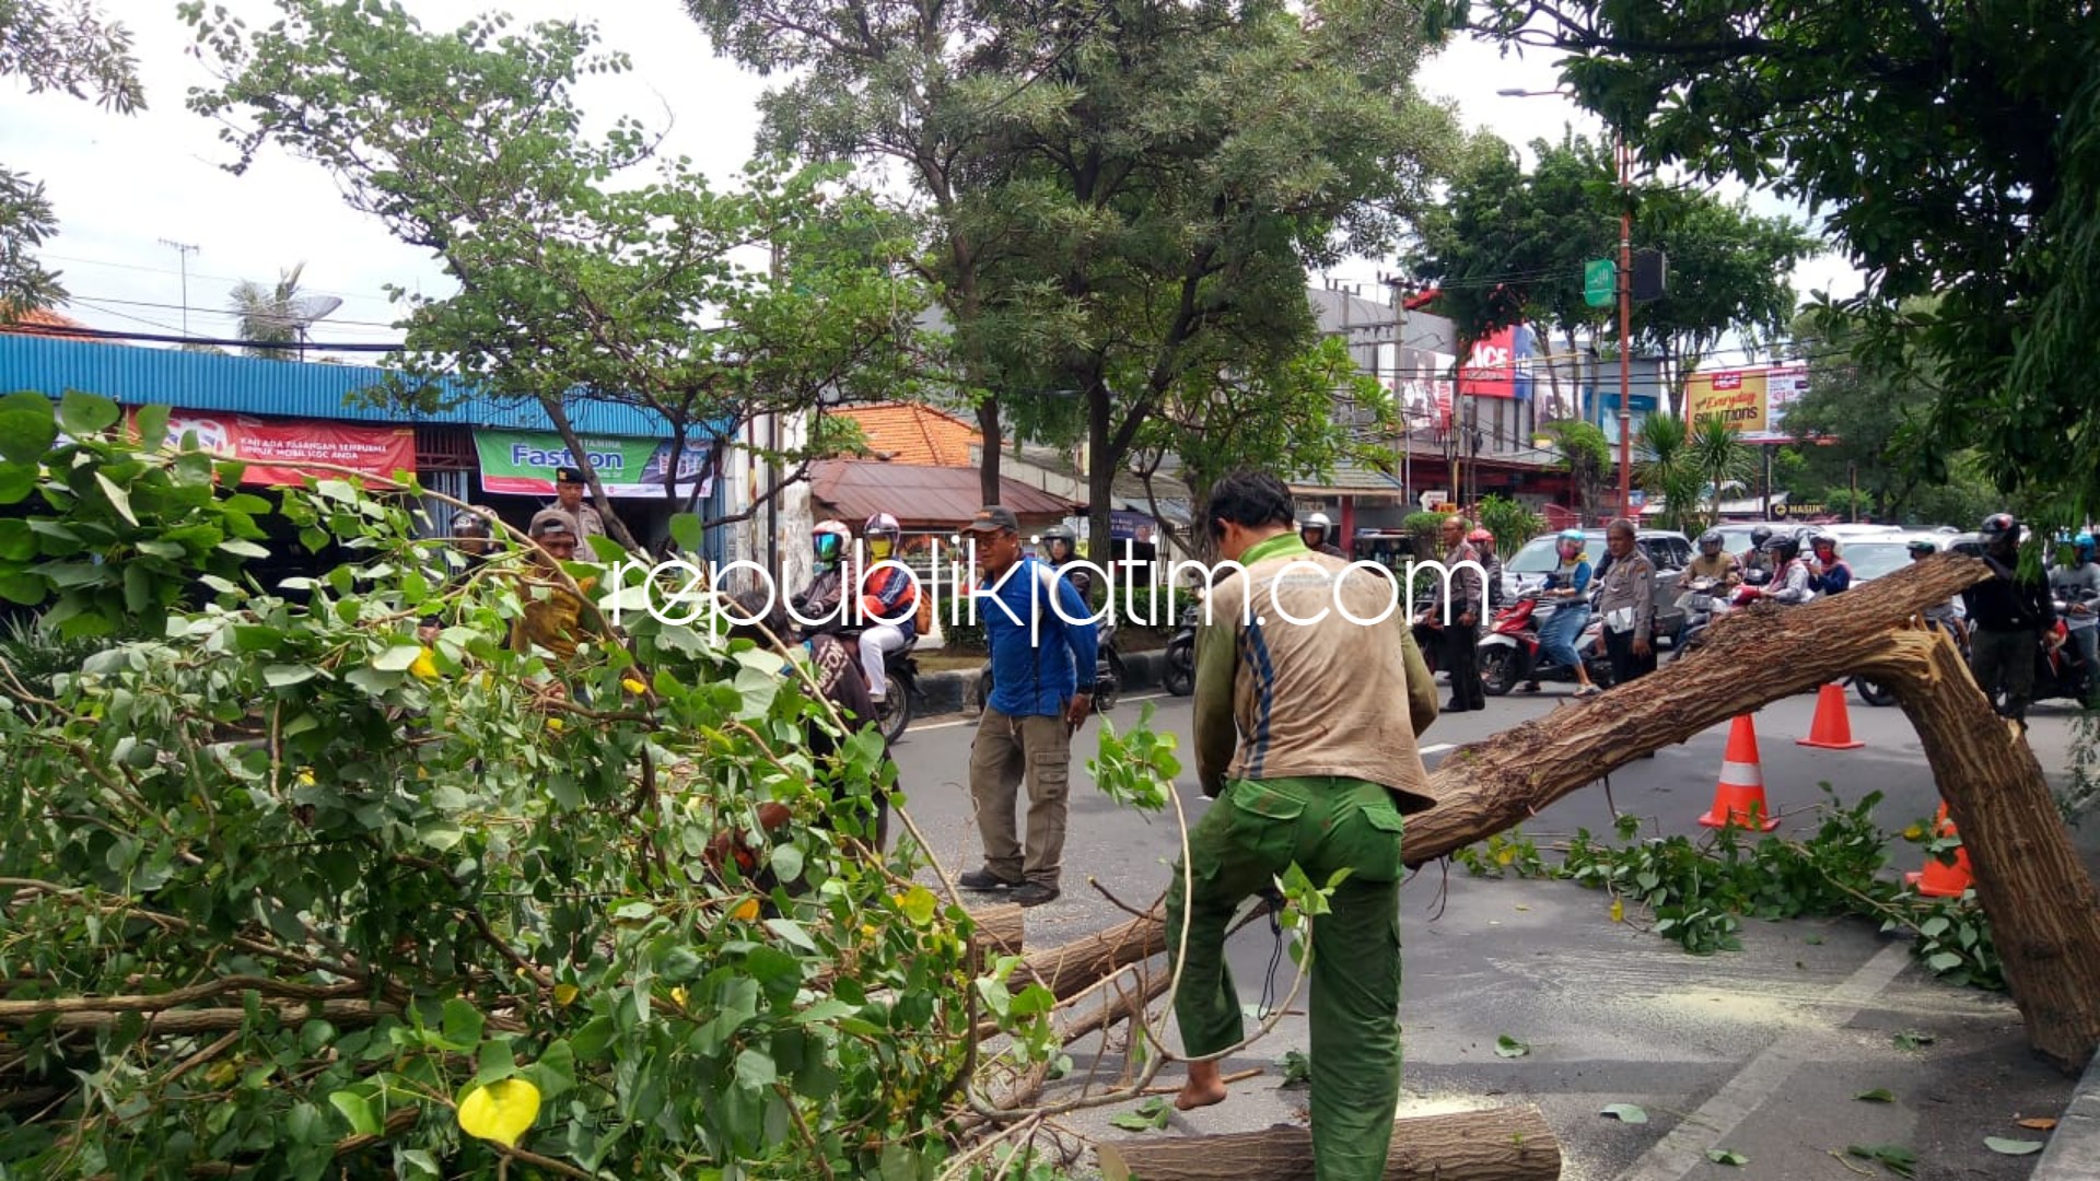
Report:
M1880 792L1842 805L1823 784L1823 822L1806 841L1762 836L1745 843L1739 828L1693 841L1651 836L1634 841L1640 820L1619 817L1625 845L1602 843L1577 830L1558 866L1518 830L1495 834L1453 853L1476 876L1560 876L1611 893L1615 920L1653 918L1653 931L1701 956L1743 948L1743 918L1865 916L1882 931L1917 935L1911 954L1955 986L2003 990L2006 975L1991 925L1974 895L1930 899L1884 876L1890 836L1873 824ZM1926 841L1926 824L1911 826L1926 853L1953 864L1959 836Z

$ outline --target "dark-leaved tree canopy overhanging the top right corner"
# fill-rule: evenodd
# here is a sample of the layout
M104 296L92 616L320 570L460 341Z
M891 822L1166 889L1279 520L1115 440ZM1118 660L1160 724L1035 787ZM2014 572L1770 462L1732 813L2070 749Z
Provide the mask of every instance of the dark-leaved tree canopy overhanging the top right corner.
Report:
M1468 13L1470 11L1470 13ZM1915 458L1980 443L2006 490L2100 504L2100 21L2014 0L1485 0L1447 13L1562 50L1642 160L1770 185L1865 271L1858 353L1940 364ZM1938 296L1930 315L1905 301Z

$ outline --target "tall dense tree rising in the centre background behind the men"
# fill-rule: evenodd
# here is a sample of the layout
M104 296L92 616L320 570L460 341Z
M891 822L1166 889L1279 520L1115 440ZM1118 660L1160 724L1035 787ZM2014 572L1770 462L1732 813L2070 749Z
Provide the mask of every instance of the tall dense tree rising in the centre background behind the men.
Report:
M1306 265L1388 242L1449 126L1411 88L1413 4L693 8L727 53L802 69L771 143L905 160L937 261L979 248L947 311L1008 399L1084 408L1096 542L1144 422L1191 378L1302 355Z

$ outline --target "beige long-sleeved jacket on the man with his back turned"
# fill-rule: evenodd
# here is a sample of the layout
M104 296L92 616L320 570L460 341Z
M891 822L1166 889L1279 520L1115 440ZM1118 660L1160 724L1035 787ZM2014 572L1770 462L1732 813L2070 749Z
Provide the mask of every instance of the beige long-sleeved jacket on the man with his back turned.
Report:
M1203 794L1226 778L1340 775L1384 784L1403 813L1434 807L1415 735L1436 721L1436 685L1392 580L1312 553L1296 534L1254 544L1241 563L1243 574L1226 567L1197 628ZM1338 603L1380 622L1350 622Z

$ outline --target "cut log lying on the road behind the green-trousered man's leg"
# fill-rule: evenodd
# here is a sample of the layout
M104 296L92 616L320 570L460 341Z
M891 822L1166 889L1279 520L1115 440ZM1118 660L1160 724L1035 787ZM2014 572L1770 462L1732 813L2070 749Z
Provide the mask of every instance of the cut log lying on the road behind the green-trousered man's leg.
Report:
M1094 1149L1109 1181L1312 1181L1312 1133L1119 1139ZM1554 1181L1560 1141L1537 1107L1392 1120L1386 1181Z

